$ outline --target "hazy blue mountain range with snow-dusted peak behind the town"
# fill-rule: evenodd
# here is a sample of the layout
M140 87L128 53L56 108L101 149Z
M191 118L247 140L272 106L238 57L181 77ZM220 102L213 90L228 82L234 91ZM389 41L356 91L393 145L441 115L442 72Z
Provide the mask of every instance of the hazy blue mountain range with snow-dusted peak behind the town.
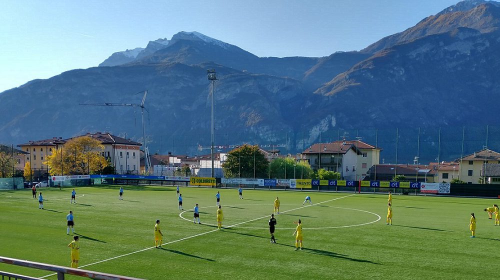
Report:
M196 153L209 145L208 68L219 145L286 141L297 152L344 129L496 125L499 27L500 3L466 0L360 51L282 58L181 31L1 92L0 142L91 131L142 141L139 111L80 104L139 103L147 89L150 149Z

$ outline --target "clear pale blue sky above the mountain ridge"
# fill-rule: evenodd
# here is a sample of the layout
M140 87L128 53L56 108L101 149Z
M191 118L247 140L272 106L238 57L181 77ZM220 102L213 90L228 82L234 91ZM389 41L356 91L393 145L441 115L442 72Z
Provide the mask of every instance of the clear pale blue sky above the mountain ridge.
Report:
M198 31L258 56L359 50L458 0L1 0L0 92Z

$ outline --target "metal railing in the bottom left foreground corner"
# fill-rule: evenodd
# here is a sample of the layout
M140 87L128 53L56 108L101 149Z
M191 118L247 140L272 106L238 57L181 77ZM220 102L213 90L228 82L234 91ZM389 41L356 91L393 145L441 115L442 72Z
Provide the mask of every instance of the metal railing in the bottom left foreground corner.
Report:
M78 275L78 276L87 277L87 278L96 279L96 280L143 280L140 278L127 277L127 276L121 276L121 275L115 275L115 274L109 274L109 273L102 273L102 272L96 272L96 271L84 270L84 269L78 269L78 268L71 268L71 267L65 267L65 266L59 266L59 265L52 265L52 264L47 264L47 263L22 260L22 259L16 259L16 258L4 257L4 256L0 256L0 262L24 266L24 267L53 271L53 272L55 272L53 275L57 275L57 280L64 280L65 274ZM14 274L14 273L3 272L3 271L0 271L0 276L2 277L1 278L2 280L3 279L5 279L5 280L6 279L44 280L42 278L24 276L24 275L20 275L20 274Z

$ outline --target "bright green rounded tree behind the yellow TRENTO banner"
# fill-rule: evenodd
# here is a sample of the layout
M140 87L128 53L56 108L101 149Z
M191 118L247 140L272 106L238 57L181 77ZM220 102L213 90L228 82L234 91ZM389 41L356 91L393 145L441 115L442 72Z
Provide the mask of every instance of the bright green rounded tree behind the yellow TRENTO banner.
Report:
M295 161L291 157L273 159L269 167L270 170L267 170L267 176L269 176L270 171L271 178L310 179L312 175L312 169L308 162Z

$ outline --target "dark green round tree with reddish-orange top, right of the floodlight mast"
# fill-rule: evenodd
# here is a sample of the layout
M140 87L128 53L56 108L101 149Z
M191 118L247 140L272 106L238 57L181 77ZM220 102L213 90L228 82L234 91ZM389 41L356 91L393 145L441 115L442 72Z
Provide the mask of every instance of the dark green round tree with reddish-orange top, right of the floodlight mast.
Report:
M226 178L261 178L267 176L268 166L257 145L244 144L227 153L222 169Z

